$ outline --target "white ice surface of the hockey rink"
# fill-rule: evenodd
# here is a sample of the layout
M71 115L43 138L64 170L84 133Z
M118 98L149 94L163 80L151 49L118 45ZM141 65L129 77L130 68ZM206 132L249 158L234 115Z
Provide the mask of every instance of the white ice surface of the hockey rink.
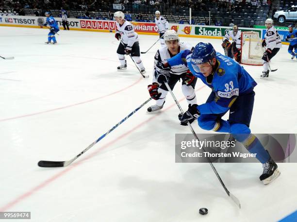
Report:
M143 79L129 57L128 69L116 71L113 33L61 31L58 45L45 45L47 34L0 27L0 55L15 56L0 60L0 211L31 211L32 222L268 222L297 209L297 164L279 164L281 176L267 186L261 164L215 164L239 210L208 164L175 163L175 134L190 131L170 94L161 112L146 112L151 101L69 167L39 168L39 160L73 158L145 102L160 47L141 55L150 74ZM140 35L141 51L156 39ZM181 41L223 52L219 39ZM253 133L297 133L297 61L287 47L267 80L262 67L245 66L258 82ZM211 90L200 81L196 89L205 102ZM174 93L183 99L181 83Z

